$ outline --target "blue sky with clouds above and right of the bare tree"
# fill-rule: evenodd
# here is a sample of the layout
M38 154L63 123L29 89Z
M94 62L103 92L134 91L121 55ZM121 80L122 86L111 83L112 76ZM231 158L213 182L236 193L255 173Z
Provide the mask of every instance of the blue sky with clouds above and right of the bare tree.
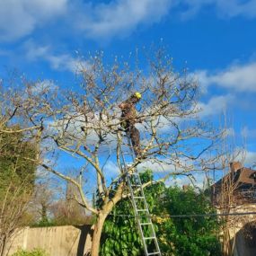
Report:
M202 86L202 117L226 110L237 144L256 162L256 1L0 0L0 75L18 69L60 87L75 81L77 52L128 57L160 42Z

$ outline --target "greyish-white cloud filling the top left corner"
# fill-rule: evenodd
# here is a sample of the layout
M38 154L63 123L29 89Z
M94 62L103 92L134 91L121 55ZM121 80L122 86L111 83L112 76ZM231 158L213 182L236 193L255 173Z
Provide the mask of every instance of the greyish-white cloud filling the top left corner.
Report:
M0 40L16 40L65 13L67 0L1 0Z

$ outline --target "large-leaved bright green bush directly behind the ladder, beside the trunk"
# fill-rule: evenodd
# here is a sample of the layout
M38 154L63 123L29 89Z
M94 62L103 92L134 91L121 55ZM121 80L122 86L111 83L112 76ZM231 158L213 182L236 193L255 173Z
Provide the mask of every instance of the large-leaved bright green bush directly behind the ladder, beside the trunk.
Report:
M140 174L142 183L153 180L153 174L146 171ZM152 212L155 207L155 200L163 193L163 184L157 183L146 188L146 201L149 210ZM123 217L122 215L134 215L130 199L119 201L112 211L112 215L108 216L103 226L101 239L101 256L139 256L145 255L143 243L140 239L137 223L134 217ZM154 226L155 231L157 226ZM149 230L146 230L148 232ZM152 251L151 251L152 252Z

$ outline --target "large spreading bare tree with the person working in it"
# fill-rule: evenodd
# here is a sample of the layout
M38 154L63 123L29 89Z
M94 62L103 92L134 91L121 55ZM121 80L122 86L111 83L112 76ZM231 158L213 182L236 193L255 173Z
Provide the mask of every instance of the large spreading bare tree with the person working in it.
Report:
M166 171L163 181L172 173L198 169L201 155L212 146L211 130L197 118L197 82L186 70L181 74L174 71L172 58L163 49L146 60L146 72L142 72L137 62L130 67L118 58L105 65L99 53L81 62L79 88L61 93L52 84L26 83L23 92L27 99L23 117L38 128L35 137L41 142L38 159L30 160L73 183L80 193L76 200L97 217L93 256L99 253L106 217L120 199L128 197L120 152L128 151L129 144L120 128L120 102L135 92L143 95L137 115L142 123L137 128L144 160L136 158L128 172L135 172L144 163L157 163ZM46 162L44 156L49 159L56 154L76 159L81 166L78 180ZM112 175L106 172L110 162L118 169ZM93 184L89 190L98 191L101 204L97 207L85 191L84 179Z

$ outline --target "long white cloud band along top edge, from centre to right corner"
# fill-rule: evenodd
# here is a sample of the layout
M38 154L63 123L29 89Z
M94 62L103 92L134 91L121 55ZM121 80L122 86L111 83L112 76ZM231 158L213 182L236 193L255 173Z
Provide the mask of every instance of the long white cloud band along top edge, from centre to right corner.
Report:
M79 3L79 4L78 4ZM236 0L119 0L107 4L92 4L92 2L76 2L73 7L71 19L75 19L75 30L84 31L86 37L108 39L123 37L135 31L140 24L153 24L160 22L170 13L171 7L182 6L181 15L191 16L203 7L213 5L217 13L225 17L243 15L256 16L256 1L239 3ZM185 11L184 11L185 10ZM72 22L73 23L73 22Z

